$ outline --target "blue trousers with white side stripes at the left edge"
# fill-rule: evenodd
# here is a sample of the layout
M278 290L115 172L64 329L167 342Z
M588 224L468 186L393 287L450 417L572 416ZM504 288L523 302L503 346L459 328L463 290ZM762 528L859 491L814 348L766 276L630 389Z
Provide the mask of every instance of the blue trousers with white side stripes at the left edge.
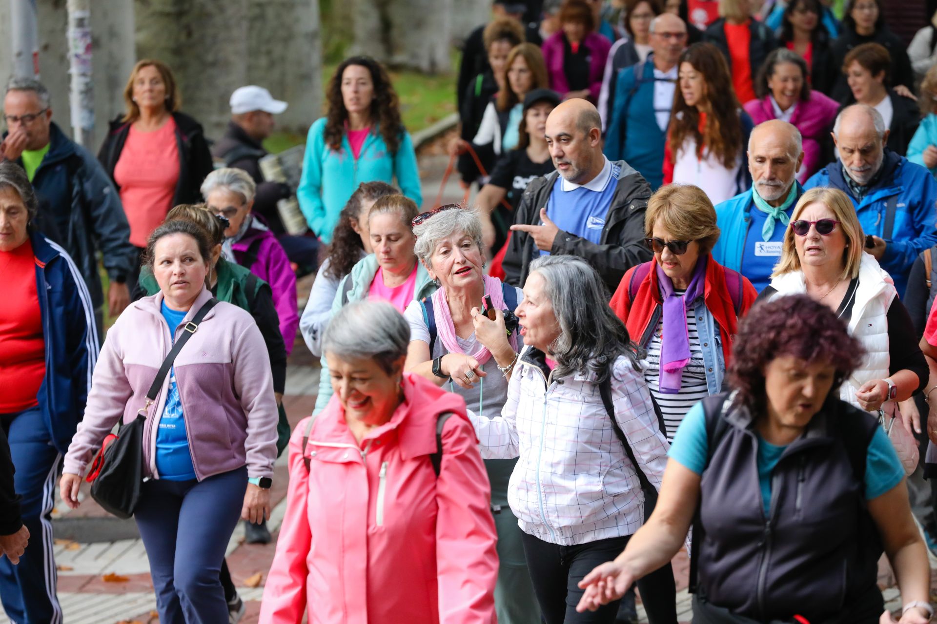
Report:
M22 524L29 530L29 544L19 564L0 558L0 601L16 624L61 624L50 514L62 455L52 446L37 407L0 415L0 426L7 433L16 468L13 484L22 497Z

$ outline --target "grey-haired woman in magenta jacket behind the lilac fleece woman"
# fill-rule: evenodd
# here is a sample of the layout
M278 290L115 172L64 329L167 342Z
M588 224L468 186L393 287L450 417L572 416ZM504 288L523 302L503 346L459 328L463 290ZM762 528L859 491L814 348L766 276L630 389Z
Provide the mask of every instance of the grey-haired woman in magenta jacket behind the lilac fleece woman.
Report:
M251 214L256 191L257 184L247 172L233 167L216 169L201 183L201 195L208 208L228 219L221 244L225 259L270 284L289 356L299 327L296 274L275 234Z

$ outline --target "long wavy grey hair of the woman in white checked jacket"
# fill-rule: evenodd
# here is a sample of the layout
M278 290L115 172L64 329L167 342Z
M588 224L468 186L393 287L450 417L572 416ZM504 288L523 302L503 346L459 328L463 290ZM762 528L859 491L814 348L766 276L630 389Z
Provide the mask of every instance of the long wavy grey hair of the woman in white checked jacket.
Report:
M608 289L594 268L574 255L543 255L530 263L530 272L546 283L559 324L559 336L550 345L558 377L588 371L602 382L619 356L638 370L637 347L609 307Z

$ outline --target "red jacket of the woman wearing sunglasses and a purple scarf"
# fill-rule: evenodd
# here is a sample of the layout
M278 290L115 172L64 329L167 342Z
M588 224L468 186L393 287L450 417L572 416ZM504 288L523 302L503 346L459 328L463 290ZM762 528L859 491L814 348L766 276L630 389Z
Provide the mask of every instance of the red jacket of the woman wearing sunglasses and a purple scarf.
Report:
M647 270L647 276L634 289L634 300L630 300L629 297L629 284L632 282L634 272L644 265L628 269L625 277L618 284L611 302L612 310L615 311L616 316L624 322L625 327L628 327L628 333L632 337L632 341L642 346L647 346L650 331L653 330L653 327L648 326L652 318L660 318L660 315L656 312L662 307L663 303L657 279L657 260L651 260L646 264L650 265L650 270L644 269ZM706 303L706 309L713 315L716 325L719 326L722 336L722 355L725 357L726 366L729 365L729 356L732 353L732 339L738 331L736 307L726 283L727 275L731 279L741 279L741 305L738 317L749 312L751 304L758 297L758 293L748 278L738 275L731 268L722 267L721 264L712 259L711 254L709 255L706 263L703 300Z

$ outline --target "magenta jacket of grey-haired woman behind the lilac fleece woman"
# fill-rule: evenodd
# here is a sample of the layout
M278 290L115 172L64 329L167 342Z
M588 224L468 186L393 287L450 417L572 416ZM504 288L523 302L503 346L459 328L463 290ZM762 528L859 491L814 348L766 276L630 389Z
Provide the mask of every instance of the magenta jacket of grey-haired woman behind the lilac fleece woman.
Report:
M257 261L247 267L248 252L255 240L258 245L255 247ZM231 249L239 265L250 268L251 273L269 283L274 291L274 307L280 319L280 333L283 334L283 343L289 356L292 353L293 341L296 340L296 330L299 328L299 311L296 307L296 274L290 266L287 253L283 251L283 246L273 232L253 225L242 239L231 245Z

